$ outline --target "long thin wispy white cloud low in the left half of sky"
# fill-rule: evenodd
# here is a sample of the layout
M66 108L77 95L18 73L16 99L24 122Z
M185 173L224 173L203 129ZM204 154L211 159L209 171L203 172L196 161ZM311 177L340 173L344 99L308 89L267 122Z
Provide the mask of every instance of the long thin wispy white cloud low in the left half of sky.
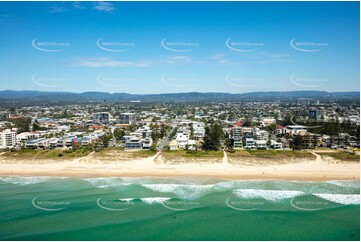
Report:
M83 67L148 67L150 61L118 61L109 58L88 58L82 59L75 66Z

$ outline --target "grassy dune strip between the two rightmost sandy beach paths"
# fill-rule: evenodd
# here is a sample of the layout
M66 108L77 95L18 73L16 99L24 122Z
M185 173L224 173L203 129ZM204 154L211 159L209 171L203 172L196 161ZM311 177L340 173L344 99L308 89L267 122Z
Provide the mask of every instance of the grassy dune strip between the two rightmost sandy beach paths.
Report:
M316 159L316 156L303 150L237 150L234 153L227 153L229 158L267 158L267 159L285 159L285 158L299 158L299 159Z

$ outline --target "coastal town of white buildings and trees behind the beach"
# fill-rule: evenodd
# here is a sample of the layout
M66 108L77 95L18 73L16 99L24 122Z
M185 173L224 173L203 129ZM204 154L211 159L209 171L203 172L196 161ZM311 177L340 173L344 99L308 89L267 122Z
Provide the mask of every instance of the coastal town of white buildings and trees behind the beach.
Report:
M359 152L357 102L88 102L5 105L0 149ZM57 153L61 157L62 153Z

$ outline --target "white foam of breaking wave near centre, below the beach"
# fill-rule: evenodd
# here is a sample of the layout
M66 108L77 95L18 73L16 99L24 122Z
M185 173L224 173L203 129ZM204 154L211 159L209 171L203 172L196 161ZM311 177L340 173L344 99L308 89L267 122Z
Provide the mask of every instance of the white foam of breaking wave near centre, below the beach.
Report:
M209 185L188 185L188 184L144 184L143 187L156 192L174 193L183 199L195 199L209 191L213 184Z

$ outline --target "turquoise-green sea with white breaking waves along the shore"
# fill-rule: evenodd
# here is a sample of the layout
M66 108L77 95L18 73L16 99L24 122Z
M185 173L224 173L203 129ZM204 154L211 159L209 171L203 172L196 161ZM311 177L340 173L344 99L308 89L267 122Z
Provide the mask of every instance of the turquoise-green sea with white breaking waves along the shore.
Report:
M1 240L359 240L359 182L0 178Z

